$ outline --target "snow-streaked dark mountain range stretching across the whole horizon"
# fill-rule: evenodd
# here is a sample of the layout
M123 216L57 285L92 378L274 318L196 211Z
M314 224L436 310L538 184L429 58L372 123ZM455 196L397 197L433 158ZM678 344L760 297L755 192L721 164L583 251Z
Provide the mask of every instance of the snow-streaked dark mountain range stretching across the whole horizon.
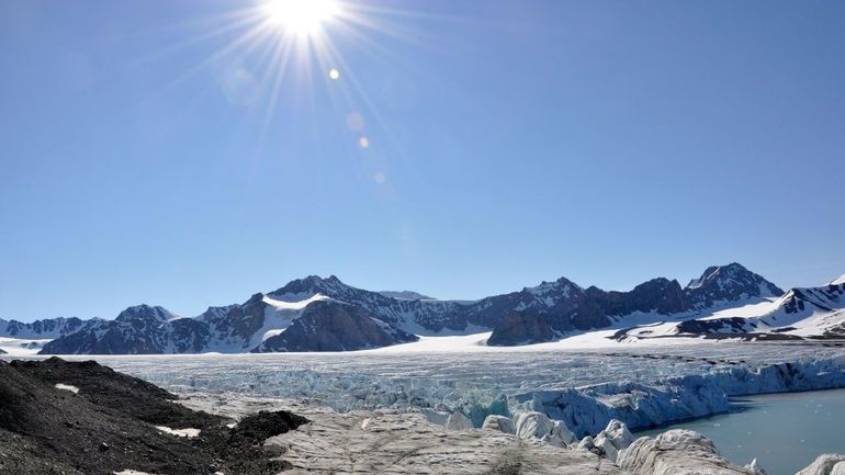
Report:
M349 351L418 336L489 332L488 346L518 346L616 329L619 341L845 336L845 276L782 291L739 263L708 268L681 286L653 279L629 292L582 287L565 278L478 301L371 292L311 275L243 304L179 317L137 305L114 319L0 319L0 337L50 340L44 354Z

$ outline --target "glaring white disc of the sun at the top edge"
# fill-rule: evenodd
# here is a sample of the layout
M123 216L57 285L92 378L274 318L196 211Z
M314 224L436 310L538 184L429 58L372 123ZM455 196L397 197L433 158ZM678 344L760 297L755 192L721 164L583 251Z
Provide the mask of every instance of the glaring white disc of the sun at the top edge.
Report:
M297 36L314 36L323 24L337 15L334 0L268 0L264 13L270 22Z

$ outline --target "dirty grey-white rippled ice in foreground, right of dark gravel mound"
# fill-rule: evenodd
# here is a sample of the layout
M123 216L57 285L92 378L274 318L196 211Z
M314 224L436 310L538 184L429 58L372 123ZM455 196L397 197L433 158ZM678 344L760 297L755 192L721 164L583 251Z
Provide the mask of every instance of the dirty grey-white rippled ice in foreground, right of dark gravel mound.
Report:
M762 475L719 455L713 443L687 430L634 439L611 421L597 437L576 439L540 412L488 416L481 429L439 412L362 410L338 414L302 402L193 396L183 404L234 417L288 407L309 422L267 440L292 464L290 474L627 474ZM845 472L845 455L822 455L799 475Z

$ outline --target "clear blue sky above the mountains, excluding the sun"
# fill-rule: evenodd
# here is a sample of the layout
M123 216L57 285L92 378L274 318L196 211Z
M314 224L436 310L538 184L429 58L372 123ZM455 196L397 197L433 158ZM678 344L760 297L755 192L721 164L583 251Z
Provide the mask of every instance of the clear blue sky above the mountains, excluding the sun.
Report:
M0 2L0 317L845 273L841 1L244 5Z

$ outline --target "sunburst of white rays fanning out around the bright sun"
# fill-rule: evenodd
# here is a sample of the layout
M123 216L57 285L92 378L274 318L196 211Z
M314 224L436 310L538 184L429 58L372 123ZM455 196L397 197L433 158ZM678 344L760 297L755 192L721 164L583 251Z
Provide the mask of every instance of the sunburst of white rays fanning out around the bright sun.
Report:
M215 71L219 68L245 70L256 78L255 90L259 99L250 101L249 111L259 117L256 159L272 136L273 121L281 112L280 108L317 106L317 86L322 84L329 100L330 108L338 114L338 123L345 124L345 117L358 111L371 118L368 123L380 128L387 143L395 150L391 155L406 157L406 151L391 129L388 122L378 110L370 92L361 82L353 65L349 64L340 46L356 45L359 50L399 65L404 70L414 66L395 49L385 46L383 38L396 38L415 47L449 53L452 46L442 38L414 27L407 20L424 21L463 21L429 12L375 7L365 2L340 0L255 0L247 8L239 8L228 14L214 14L209 18L187 22L191 27L205 29L188 41L169 46L159 55L169 55L195 44L226 39L221 47L212 52L179 77L168 83L160 93L187 83L195 76ZM351 46L350 46L351 47ZM146 58L145 58L146 59ZM230 66L225 66L230 64ZM245 69L246 68L246 69ZM334 77L330 70L336 70ZM424 73L425 71L418 71ZM219 75L221 72L214 72ZM226 72L228 73L228 72ZM223 81L223 80L221 80ZM289 87L290 86L290 87ZM227 87L227 86L223 86ZM358 104L358 105L357 105ZM316 120L316 114L307 114L306 120ZM318 124L312 124L317 133ZM350 144L357 150L375 147L372 131L367 132L367 147L360 147L363 132L354 133ZM381 140L380 140L381 143ZM255 163L254 163L255 165Z

